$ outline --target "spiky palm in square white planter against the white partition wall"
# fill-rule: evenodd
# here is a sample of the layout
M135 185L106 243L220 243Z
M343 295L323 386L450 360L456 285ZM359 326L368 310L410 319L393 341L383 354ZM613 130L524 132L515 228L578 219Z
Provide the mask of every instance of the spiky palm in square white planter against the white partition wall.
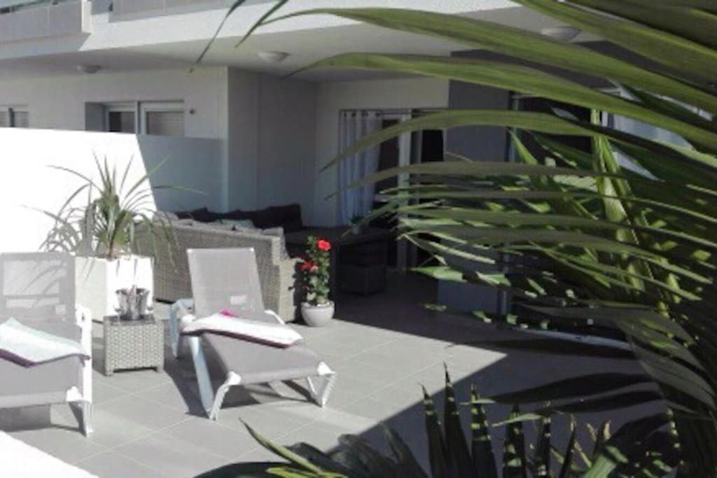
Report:
M54 227L44 242L44 249L72 252L77 257L77 300L92 311L94 317L113 315L122 304L151 304L153 289L152 260L133 254L136 232L144 227L158 234L171 234L166 221L153 210L149 177L158 165L134 183L128 183L132 161L118 174L105 159L95 158L99 180L68 168L54 167L85 181L51 216ZM169 186L158 186L168 188ZM87 202L77 206L76 199L87 194ZM141 299L141 300L140 300ZM135 314L136 315L136 314ZM136 318L136 317L135 317Z

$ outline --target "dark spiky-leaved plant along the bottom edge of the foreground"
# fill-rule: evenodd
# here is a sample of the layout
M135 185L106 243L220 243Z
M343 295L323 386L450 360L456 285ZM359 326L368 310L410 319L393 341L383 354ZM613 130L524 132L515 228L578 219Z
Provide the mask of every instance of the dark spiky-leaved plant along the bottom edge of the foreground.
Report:
M346 435L341 446L324 453L314 446L298 443L281 446L265 439L247 425L250 434L281 462L237 463L206 472L201 478L214 477L315 477L315 478L433 478L442 477L663 477L675 465L674 436L670 416L645 416L622 426L614 434L608 421L597 427L584 424L591 443L580 444L578 426L554 424L553 414L579 411L580 407L543 407L537 417L535 441L528 442L518 406L505 421L490 424L486 407L494 399L482 398L473 386L465 406L458 401L450 376L446 385L442 418L433 398L424 390L424 421L427 438L429 473L419 465L409 446L396 431L381 426L391 450L382 454L360 436ZM497 397L509 401L511 396ZM467 410L465 410L467 408ZM461 415L470 413L470 441L466 441ZM503 427L503 439L495 434ZM556 444L556 429L564 429L564 444ZM493 431L493 433L492 433ZM500 450L500 454L497 451ZM501 459L502 458L502 459Z

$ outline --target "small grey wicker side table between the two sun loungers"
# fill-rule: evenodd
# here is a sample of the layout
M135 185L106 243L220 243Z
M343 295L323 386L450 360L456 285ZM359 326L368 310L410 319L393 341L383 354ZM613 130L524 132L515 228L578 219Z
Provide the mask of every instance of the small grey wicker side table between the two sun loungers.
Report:
M164 368L164 327L160 320L104 319L105 375L116 370Z

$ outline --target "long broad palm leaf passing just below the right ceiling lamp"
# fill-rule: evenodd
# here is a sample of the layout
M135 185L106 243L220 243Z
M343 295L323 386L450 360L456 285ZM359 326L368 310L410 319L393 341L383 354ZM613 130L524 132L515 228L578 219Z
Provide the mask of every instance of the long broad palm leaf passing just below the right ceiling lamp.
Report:
M717 98L667 75L645 70L575 44L467 16L381 8L310 9L280 16L271 22L315 14L331 14L378 27L438 37L466 47L487 49L527 61L539 58L541 63L553 67L611 78L615 82L655 91L706 110L717 110Z

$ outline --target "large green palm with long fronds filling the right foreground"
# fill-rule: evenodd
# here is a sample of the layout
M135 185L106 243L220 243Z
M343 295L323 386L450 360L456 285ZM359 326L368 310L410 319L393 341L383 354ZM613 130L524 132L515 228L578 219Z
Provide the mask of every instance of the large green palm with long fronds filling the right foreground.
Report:
M482 19L419 10L314 9L275 16L287 3L283 0L255 28L288 16L331 14L423 34L517 61L351 53L314 67L438 77L592 110L591 120L559 110L445 110L359 140L336 161L427 128L515 131L516 163L472 161L449 152L454 161L381 171L355 186L409 175L407 185L384 191L389 203L374 215L397 216L402 237L435 256L437 265L420 272L510 294L509 314L477 310L476 317L608 339L591 348L555 340L541 353L599 349L604 357L639 360L643 374L598 378L586 372L571 394L575 403L621 408L627 386L652 381L660 396L634 397L631 404L667 403L680 444L678 476L716 477L717 4L515 1L616 47L606 52L627 50L632 58ZM602 79L626 94L587 87L559 71ZM598 112L668 130L688 146L602 125ZM521 142L528 136L540 155ZM588 138L592 147L578 150L561 136ZM485 272L486 266L495 272ZM512 345L538 348L530 340ZM534 401L536 394L525 391L523 401Z

